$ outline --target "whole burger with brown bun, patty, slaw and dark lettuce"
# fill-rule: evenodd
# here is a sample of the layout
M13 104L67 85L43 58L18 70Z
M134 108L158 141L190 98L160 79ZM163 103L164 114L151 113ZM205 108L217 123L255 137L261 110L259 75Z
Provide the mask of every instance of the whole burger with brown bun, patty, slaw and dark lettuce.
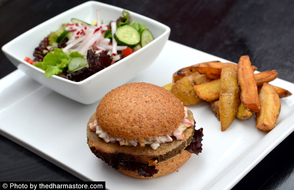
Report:
M129 83L108 92L87 124L96 157L135 178L169 174L202 151L203 129L170 91Z

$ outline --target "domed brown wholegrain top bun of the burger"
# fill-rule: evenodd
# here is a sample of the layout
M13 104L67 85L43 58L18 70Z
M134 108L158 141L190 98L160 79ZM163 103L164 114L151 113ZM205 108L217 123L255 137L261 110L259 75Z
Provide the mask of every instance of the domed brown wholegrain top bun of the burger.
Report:
M96 109L96 119L102 130L127 139L166 135L176 130L184 117L184 106L175 95L143 82L113 89Z

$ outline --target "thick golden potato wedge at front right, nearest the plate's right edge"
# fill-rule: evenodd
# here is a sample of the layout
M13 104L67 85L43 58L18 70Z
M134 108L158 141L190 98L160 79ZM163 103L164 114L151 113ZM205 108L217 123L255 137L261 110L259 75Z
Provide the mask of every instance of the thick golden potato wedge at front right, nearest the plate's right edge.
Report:
M260 112L256 113L256 127L261 130L272 130L277 124L281 102L275 89L264 83L259 93Z

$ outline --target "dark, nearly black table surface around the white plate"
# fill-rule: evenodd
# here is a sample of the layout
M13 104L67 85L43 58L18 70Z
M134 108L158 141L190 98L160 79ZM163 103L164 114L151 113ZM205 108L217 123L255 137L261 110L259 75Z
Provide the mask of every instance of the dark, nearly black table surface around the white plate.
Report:
M1 0L0 46L84 1ZM238 62L249 55L258 70L276 69L294 83L294 1L108 0L107 4L153 18L171 28L170 40ZM197 60L195 60L197 63ZM14 71L0 52L0 78ZM293 92L292 92L293 93ZM1 101L0 100L0 104ZM233 189L293 189L294 133ZM78 178L0 135L0 181L79 181Z

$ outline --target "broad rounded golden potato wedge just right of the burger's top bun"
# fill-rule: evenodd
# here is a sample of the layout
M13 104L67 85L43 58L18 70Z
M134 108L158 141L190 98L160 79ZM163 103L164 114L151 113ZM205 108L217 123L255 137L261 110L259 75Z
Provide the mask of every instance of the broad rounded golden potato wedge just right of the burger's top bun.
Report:
M194 86L209 82L205 74L195 72L179 79L171 88L171 92L183 102L184 106L191 106L202 101L194 90Z

